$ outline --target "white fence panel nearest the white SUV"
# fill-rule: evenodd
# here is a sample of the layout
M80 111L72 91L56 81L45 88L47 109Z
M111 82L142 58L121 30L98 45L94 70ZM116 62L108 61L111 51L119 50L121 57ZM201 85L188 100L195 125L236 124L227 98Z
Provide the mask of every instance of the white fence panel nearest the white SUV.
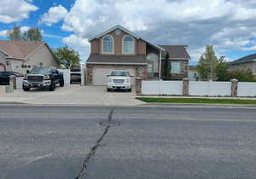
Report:
M183 81L143 81L143 95L183 95Z

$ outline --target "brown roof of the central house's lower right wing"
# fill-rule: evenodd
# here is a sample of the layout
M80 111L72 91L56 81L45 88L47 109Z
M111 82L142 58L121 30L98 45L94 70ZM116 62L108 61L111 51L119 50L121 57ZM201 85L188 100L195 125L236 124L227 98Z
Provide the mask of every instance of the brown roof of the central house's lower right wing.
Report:
M187 45L160 45L161 48L166 49L162 54L162 58L165 58L166 53L169 53L170 59L177 60L189 60L190 56L187 52Z

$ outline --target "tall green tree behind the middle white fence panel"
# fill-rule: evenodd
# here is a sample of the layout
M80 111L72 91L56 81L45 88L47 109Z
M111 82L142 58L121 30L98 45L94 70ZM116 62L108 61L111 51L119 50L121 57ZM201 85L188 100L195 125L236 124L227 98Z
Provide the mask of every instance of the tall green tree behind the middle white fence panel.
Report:
M215 55L214 49L212 45L207 45L206 52L201 55L199 60L199 65L197 66L197 72L200 75L200 78L205 81L216 80L217 77L217 66L218 61L224 58L221 56L218 59L218 56Z

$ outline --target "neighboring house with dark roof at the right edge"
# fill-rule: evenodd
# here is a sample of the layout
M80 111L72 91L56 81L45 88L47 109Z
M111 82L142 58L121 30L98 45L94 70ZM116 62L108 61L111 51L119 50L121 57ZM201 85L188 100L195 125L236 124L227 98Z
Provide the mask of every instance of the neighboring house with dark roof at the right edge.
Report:
M246 71L250 69L253 75L256 75L256 54L247 55L236 61L231 61L228 63L230 65L230 70L243 70Z

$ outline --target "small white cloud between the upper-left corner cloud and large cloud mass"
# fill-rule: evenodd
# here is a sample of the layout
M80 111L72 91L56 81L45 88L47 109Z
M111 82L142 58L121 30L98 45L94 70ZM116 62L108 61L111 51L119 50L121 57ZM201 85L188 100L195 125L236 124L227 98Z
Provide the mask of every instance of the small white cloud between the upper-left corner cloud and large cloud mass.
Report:
M62 20L67 13L67 9L61 5L51 7L47 13L42 15L40 22L44 23L46 26L51 26Z

